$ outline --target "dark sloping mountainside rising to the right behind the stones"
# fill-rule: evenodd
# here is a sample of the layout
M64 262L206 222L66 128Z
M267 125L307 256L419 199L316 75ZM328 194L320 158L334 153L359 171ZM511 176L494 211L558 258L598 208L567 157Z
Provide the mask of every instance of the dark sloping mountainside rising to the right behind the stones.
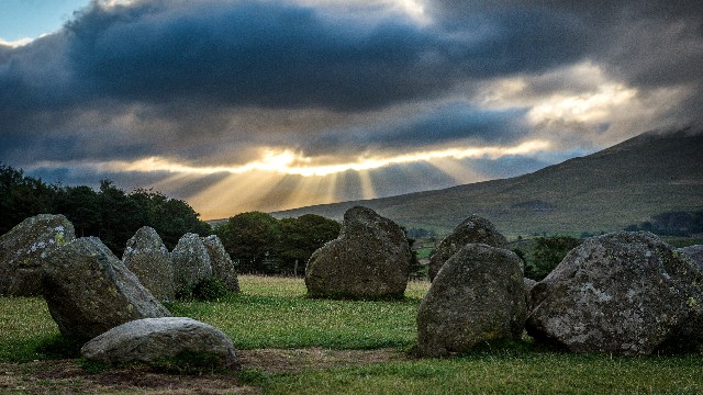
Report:
M703 129L649 132L521 177L271 213L341 219L355 205L408 227L451 230L470 214L507 236L621 230L652 215L703 210Z

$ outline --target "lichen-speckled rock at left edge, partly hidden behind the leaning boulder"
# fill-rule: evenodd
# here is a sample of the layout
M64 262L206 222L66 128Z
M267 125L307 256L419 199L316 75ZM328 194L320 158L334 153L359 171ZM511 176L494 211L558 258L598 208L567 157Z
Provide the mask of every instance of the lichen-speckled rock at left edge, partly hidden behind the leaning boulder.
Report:
M74 225L63 215L40 214L0 237L0 296L42 294L46 253L74 240Z

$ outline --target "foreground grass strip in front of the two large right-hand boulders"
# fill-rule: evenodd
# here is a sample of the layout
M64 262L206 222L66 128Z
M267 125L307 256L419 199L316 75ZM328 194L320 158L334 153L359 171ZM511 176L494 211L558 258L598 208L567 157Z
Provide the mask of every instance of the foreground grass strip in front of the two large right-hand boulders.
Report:
M701 357L484 353L269 377L269 394L700 394Z

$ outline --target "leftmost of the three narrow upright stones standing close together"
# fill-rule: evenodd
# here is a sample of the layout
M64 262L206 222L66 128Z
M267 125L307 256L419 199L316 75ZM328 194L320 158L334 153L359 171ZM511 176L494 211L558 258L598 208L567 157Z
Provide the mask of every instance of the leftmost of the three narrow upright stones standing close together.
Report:
M132 236L122 261L157 300L175 298L171 255L154 228L144 226Z

